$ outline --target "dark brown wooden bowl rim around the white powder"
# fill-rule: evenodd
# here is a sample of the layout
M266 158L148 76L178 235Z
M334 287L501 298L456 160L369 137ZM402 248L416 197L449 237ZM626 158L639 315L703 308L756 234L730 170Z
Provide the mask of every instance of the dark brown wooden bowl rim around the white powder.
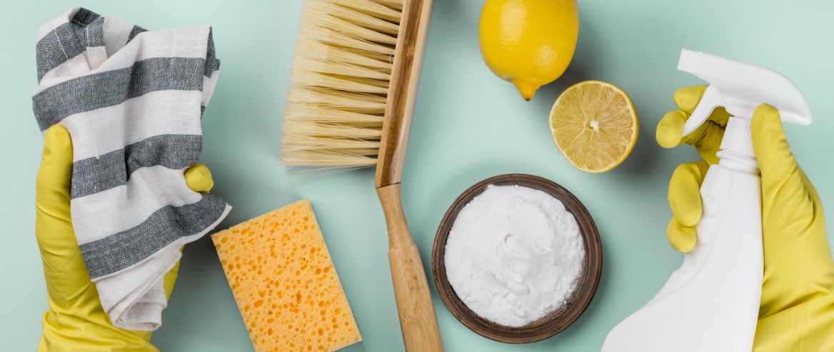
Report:
M455 289L452 289L451 284L449 284L449 279L446 278L444 256L446 252L446 239L449 237L452 224L455 224L455 218L460 213L460 209L463 209L466 204L469 204L475 196L483 193L486 186L490 184L497 186L517 184L531 189L539 189L559 199L562 204L565 204L565 209L568 209L574 215L585 242L585 260L582 263L582 274L580 274L576 290L570 299L567 300L567 304L545 315L541 319L521 327L496 324L488 319L481 318L460 300L460 297L455 294ZM440 222L440 228L437 229L434 249L431 252L431 269L434 272L435 285L437 285L440 298L443 299L446 308L455 315L455 318L466 325L467 328L495 341L510 344L526 344L559 334L560 331L573 324L585 311L588 304L590 304L590 300L594 298L597 285L600 284L600 274L602 274L602 244L600 243L600 234L596 229L594 219L591 219L585 206L573 194L570 194L567 189L553 181L542 179L538 176L523 173L508 173L485 179L470 187L463 194L460 194L458 199L455 199L455 203L446 211L443 220Z

